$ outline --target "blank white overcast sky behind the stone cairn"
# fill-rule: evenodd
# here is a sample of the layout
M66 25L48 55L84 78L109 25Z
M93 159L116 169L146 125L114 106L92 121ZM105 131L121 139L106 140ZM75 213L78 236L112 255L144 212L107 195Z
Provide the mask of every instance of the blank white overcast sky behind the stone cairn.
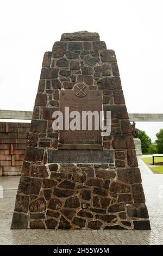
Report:
M98 32L115 50L129 113L163 113L162 0L0 3L0 109L33 111L42 58L64 32ZM155 140L163 123L137 123Z

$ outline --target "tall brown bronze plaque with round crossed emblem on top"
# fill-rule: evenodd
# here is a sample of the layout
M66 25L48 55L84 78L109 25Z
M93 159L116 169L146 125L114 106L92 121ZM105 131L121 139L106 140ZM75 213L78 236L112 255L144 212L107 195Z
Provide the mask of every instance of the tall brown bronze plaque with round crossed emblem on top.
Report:
M82 113L83 111L98 112L102 111L102 92L101 90L89 90L84 83L77 83L74 90L60 91L60 111L63 113L64 126L59 131L59 143L61 144L102 144L101 129L95 129L95 117L92 115L92 130L88 127L88 118L86 130L82 130ZM78 111L80 113L80 130L65 130L65 107L69 107L69 111ZM74 118L70 118L71 120ZM70 126L69 126L70 127Z

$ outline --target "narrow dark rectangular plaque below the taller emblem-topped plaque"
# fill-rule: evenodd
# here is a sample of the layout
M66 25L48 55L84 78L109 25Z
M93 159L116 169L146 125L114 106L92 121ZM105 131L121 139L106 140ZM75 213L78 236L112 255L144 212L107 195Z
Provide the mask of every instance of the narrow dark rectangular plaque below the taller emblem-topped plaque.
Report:
M48 150L48 163L114 163L113 150Z

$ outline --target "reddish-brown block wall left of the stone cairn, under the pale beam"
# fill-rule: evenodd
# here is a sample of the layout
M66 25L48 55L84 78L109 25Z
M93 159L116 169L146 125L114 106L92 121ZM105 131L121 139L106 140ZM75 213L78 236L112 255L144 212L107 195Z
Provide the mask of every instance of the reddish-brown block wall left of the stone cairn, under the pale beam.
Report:
M30 123L0 123L0 176L19 175Z

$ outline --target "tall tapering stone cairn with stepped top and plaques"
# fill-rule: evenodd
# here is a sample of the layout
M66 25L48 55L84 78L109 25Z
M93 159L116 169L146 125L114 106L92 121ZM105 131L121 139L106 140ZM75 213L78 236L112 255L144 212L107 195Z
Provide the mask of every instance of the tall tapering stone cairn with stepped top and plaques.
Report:
M52 127L54 111L111 111L111 134ZM62 34L43 57L11 229L150 229L115 52Z

